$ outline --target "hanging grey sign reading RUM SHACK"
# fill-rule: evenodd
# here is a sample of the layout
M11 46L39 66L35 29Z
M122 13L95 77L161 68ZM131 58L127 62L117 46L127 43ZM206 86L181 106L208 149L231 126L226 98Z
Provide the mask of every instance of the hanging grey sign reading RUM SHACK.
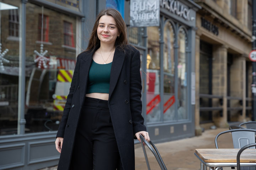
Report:
M130 0L130 26L159 26L159 0Z

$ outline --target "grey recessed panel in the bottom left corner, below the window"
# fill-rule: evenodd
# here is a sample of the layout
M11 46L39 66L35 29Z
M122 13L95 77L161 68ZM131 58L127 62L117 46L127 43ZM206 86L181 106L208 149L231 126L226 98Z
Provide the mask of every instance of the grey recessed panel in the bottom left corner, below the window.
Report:
M0 170L25 165L25 143L0 146Z

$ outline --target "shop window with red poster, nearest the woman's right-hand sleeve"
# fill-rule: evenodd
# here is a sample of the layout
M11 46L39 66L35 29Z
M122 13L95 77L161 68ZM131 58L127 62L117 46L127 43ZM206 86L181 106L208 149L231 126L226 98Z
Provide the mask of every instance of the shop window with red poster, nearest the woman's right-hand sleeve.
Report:
M148 27L146 120L160 121L160 46L159 28Z

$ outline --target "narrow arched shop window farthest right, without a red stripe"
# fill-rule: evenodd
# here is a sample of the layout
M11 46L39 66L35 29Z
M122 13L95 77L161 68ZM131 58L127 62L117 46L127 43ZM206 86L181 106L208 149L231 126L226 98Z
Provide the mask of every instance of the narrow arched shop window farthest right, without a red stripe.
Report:
M178 119L187 119L187 35L183 28L178 33Z

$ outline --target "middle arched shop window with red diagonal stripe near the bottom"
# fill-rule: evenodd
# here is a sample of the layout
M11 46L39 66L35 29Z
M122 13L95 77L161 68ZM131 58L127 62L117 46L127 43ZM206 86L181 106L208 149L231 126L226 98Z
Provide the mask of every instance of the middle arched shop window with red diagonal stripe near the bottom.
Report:
M164 27L164 120L175 118L174 30L170 22Z

